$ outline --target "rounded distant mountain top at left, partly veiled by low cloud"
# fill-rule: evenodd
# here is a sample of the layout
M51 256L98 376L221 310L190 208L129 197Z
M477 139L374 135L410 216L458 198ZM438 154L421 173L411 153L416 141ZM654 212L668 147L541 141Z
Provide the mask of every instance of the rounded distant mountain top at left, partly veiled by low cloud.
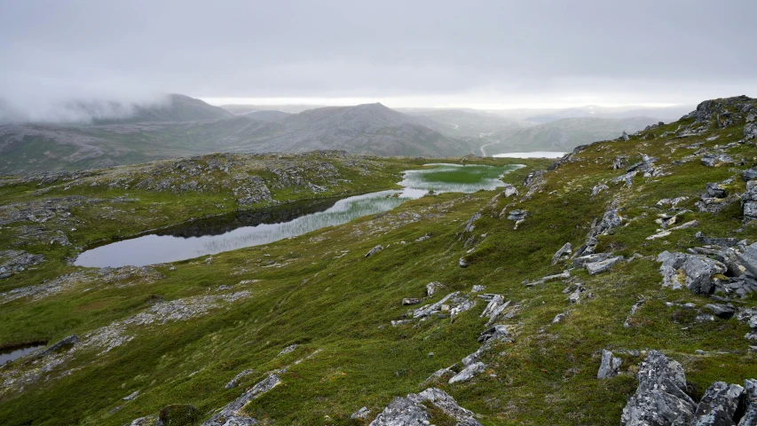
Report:
M83 107L86 107L85 105ZM170 94L165 101L156 105L136 105L124 118L96 119L94 124L116 124L130 122L193 122L198 120L218 120L233 114L219 106L212 106L201 99L185 95Z

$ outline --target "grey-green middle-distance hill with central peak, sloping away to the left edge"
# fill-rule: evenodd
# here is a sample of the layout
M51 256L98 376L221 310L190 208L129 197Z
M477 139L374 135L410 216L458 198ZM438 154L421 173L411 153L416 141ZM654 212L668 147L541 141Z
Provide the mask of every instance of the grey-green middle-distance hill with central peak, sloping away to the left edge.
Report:
M186 108L181 111L185 115L191 112ZM0 173L108 167L216 152L339 149L352 154L444 156L471 151L469 143L430 130L423 125L423 119L376 104L286 115L262 111L223 114L231 116L175 122L168 119L179 115L151 110L139 116L165 121L0 126Z

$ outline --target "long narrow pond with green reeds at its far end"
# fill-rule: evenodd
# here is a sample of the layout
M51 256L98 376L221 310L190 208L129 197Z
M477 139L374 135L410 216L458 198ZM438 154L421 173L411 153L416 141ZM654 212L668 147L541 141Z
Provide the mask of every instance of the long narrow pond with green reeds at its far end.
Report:
M161 264L267 244L317 229L342 225L435 193L473 193L504 184L501 177L521 165L429 164L407 170L402 189L366 193L341 200L300 201L265 209L211 217L84 251L76 265L120 267Z

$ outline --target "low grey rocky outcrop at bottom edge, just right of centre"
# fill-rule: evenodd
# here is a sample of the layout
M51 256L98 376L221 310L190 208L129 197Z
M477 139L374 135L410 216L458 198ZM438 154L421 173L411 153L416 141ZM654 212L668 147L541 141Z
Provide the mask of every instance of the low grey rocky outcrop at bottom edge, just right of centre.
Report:
M459 406L444 390L436 388L394 398L371 426L428 426L434 422L434 417L426 403L452 417L458 426L481 426L474 418L475 414Z

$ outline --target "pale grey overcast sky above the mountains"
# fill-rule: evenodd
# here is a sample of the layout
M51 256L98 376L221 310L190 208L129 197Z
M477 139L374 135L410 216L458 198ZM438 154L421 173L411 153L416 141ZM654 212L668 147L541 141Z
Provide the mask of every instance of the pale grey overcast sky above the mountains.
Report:
M693 104L757 96L755 0L0 0L0 97Z

